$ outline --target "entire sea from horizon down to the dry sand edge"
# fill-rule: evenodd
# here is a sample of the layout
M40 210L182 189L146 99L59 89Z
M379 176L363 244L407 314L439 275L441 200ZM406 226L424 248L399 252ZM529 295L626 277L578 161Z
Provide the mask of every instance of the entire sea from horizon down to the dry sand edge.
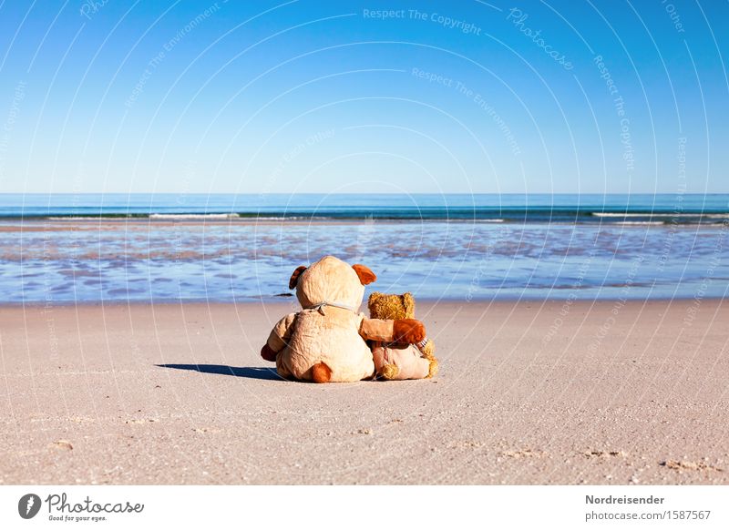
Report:
M421 299L724 298L729 195L0 195L0 303L275 300L326 254Z

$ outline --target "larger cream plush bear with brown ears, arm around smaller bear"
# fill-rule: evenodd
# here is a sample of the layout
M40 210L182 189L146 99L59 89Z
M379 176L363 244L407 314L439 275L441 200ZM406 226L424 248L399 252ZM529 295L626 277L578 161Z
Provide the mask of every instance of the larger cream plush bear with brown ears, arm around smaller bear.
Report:
M349 265L334 256L294 270L289 289L296 290L302 309L273 326L262 358L275 361L285 379L355 382L374 377L366 341L411 343L426 338L425 326L415 319L368 319L357 312L364 286L376 279L365 265Z

